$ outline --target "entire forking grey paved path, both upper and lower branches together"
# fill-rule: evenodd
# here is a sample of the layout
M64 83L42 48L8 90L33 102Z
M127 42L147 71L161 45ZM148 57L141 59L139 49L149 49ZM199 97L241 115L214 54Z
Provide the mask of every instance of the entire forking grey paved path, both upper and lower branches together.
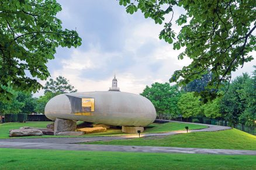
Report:
M175 122L175 121L170 121ZM184 122L186 123L186 122ZM194 123L199 124L199 123ZM205 125L205 124L200 124ZM212 132L227 130L231 127L207 125L205 129L189 130L189 132ZM167 133L146 133L141 137L167 136L179 133L186 133L186 130L178 130ZM84 151L123 151L141 153L189 153L189 154L243 154L256 155L251 150L223 150L204 148L178 148L178 147L150 147L150 146L111 146L97 144L75 144L87 141L121 140L138 137L138 134L123 136L98 136L98 137L65 137L65 138L32 138L32 139L0 139L0 148L30 148L30 149L56 149L56 150L84 150Z

